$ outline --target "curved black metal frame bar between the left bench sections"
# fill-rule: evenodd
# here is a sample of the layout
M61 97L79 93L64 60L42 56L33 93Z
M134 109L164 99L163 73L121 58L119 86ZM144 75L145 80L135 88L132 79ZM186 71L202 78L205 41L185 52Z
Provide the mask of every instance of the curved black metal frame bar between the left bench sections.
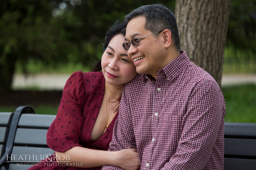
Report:
M0 159L0 167L3 166L5 161L7 160L7 154L10 155L12 153L14 137L16 134L16 129L18 126L20 115L22 113L35 114L35 111L30 106L20 106L15 110L13 117L12 117L12 122L10 125L10 130L9 130L9 134L8 134L8 138L7 138L7 142L6 142L5 153L4 153L3 157Z

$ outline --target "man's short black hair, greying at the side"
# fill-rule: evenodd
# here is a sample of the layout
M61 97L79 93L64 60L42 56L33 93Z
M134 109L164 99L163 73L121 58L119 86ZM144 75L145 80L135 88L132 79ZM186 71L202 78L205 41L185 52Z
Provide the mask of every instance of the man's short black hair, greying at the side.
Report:
M125 16L124 22L128 24L133 18L144 16L146 18L145 29L156 33L168 29L172 33L174 47L180 52L180 37L176 18L172 11L162 4L141 6ZM155 34L158 36L158 34Z

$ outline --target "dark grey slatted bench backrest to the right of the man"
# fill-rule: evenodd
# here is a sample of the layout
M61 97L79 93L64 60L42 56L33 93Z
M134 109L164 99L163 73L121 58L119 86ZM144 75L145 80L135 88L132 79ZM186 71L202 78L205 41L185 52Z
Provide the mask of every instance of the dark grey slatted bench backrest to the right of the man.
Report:
M224 170L256 169L256 123L225 123Z

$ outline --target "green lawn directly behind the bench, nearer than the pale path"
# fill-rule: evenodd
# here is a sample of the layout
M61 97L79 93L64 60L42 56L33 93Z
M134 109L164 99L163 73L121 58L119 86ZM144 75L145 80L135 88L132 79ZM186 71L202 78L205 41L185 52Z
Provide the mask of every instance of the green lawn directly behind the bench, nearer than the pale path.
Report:
M256 85L223 87L226 102L225 122L256 123ZM33 107L33 106L32 106ZM59 106L35 106L36 114L56 115ZM0 112L14 112L16 107L0 106Z

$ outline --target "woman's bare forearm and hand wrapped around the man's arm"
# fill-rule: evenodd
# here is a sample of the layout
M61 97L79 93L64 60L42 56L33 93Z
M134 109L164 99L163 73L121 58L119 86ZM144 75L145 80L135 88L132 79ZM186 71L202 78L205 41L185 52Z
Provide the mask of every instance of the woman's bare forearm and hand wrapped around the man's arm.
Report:
M57 158L57 162L59 163L64 159L63 161L70 161L68 164L74 166L79 164L79 167L84 168L114 165L126 170L136 170L140 167L139 156L136 149L108 152L76 146L65 152L55 152L55 154L55 158Z

